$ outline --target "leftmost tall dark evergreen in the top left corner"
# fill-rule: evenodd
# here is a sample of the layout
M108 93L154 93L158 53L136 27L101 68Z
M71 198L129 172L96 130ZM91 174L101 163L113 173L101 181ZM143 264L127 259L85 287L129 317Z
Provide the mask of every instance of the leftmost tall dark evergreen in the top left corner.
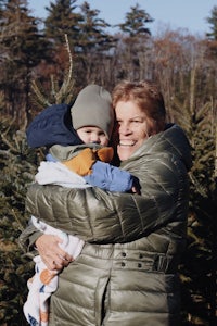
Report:
M0 26L0 84L8 102L4 113L15 115L17 123L23 123L28 118L30 71L41 58L47 57L48 46L38 32L37 20L28 13L26 0L9 0L2 11Z

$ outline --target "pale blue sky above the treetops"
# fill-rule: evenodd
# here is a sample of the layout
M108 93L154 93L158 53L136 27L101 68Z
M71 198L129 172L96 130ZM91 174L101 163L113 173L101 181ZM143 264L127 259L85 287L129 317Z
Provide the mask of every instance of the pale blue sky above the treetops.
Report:
M44 17L50 0L29 0L29 9L33 14ZM52 2L55 2L52 0ZM77 0L81 4L84 0ZM204 35L210 32L206 17L210 16L212 9L217 0L87 0L91 9L100 10L99 17L111 25L125 21L125 15L130 7L139 3L140 8L154 18L154 23L148 25L152 34L168 26L170 29L187 28L191 34Z

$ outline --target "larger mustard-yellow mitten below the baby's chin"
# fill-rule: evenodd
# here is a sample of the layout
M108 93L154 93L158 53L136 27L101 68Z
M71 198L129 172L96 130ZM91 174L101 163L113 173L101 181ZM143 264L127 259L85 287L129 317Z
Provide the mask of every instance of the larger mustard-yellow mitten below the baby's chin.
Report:
M80 176L84 176L91 174L91 167L97 158L92 149L86 148L77 156L62 163L73 172L77 173Z

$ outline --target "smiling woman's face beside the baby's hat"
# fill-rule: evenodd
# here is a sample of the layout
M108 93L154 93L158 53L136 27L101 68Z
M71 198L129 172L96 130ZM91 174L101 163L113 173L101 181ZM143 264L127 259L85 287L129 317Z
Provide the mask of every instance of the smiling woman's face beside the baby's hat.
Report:
M155 122L132 101L117 102L115 112L119 134L117 153L120 161L125 161L149 136L156 134Z

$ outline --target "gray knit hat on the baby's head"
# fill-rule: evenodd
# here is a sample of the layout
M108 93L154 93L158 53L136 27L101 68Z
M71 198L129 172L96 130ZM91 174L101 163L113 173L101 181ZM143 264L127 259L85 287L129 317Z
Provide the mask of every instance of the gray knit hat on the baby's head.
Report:
M77 130L85 126L101 128L110 139L114 126L112 97L98 85L88 85L77 96L71 109L73 127Z

